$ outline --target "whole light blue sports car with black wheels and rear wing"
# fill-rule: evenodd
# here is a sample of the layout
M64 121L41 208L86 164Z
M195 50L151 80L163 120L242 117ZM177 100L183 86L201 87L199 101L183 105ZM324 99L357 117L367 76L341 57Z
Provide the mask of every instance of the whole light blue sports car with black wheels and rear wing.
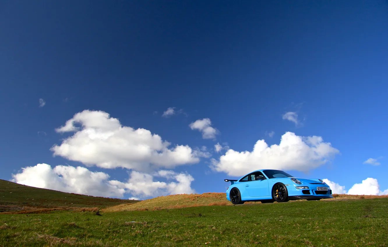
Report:
M320 179L295 178L279 170L256 170L230 182L226 199L233 204L244 202L287 202L333 198L329 185Z

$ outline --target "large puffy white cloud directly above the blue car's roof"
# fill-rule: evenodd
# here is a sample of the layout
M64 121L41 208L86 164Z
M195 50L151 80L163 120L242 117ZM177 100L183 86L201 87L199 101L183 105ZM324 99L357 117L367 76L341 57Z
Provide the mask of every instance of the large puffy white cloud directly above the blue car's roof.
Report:
M241 176L258 169L306 172L326 164L329 158L338 153L338 149L329 142L323 142L322 137L301 137L286 132L279 145L268 147L264 140L258 140L251 152L229 149L220 160L212 159L210 167L230 176Z

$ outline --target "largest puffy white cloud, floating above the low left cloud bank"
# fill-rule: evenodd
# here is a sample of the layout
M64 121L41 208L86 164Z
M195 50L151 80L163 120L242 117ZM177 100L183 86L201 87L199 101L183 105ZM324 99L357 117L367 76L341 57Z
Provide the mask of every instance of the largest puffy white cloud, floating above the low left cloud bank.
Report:
M75 124L80 124L76 127ZM168 148L170 142L146 129L122 126L104 111L76 113L57 132L75 132L50 149L54 156L102 168L123 167L138 171L173 168L199 162L198 153L189 146Z

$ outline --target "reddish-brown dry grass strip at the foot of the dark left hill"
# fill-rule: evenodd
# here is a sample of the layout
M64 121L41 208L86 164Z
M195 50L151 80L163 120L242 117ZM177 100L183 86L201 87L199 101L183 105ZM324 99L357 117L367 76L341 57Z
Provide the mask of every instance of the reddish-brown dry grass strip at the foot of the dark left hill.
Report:
M1 206L3 212L0 214L39 214L50 213L51 211L66 210L74 212L97 212L99 208L74 208L74 207L57 207L57 208L42 208L32 206ZM9 211L7 211L9 209Z

